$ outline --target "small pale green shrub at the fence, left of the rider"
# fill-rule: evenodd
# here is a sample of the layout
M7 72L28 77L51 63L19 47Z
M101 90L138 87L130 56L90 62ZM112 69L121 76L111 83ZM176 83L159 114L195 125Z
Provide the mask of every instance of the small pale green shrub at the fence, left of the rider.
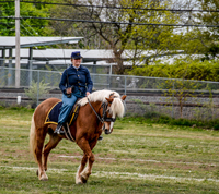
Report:
M44 83L43 81L41 81L39 83L33 81L30 88L24 89L25 95L28 96L34 104L36 104L37 94L38 94L38 97L41 97L42 95L48 94L49 89L47 86L48 86L48 83Z

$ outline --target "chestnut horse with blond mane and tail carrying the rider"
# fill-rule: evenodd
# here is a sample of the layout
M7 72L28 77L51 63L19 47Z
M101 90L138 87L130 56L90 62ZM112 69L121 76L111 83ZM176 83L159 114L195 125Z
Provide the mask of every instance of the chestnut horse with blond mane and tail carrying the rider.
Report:
M70 135L83 151L83 157L76 173L76 184L87 183L94 162L92 149L95 147L102 131L105 134L111 134L116 117L124 117L125 99L126 95L120 97L114 90L96 90L78 101L80 109L77 120L69 126ZM36 107L32 116L30 149L38 163L36 174L41 181L48 180L46 171L50 150L62 138L67 138L65 135L54 133L57 126L56 123L45 123L47 113L58 101L60 101L58 98L44 100ZM49 141L44 146L47 134Z

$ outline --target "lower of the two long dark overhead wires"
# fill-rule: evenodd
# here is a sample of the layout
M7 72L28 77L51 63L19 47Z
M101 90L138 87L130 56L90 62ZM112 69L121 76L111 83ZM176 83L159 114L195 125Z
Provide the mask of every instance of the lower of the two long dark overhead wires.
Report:
M66 22L82 22L82 23L101 23L101 24L128 24L128 25L153 25L153 26L181 26L181 27L219 27L219 25L192 25L192 24L152 24L152 23L128 23L128 22L102 22L102 21L85 21L85 20L72 20L72 19L56 19L56 17L38 17L38 16L0 16L0 19L38 19L38 20L50 20L50 21L66 21Z

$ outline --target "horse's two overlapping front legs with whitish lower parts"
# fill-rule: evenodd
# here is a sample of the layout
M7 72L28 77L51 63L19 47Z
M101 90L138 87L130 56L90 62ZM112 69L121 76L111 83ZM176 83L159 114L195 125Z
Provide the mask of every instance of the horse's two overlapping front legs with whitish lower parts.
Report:
M91 169L94 162L94 155L92 153L92 149L96 145L96 142L97 142L97 138L96 141L93 141L91 144L89 144L88 141L84 141L84 140L78 143L79 147L83 150L84 156L81 160L81 166L79 167L79 170L77 172L77 179L76 179L77 184L87 183L91 174ZM84 169L87 160L89 160L89 165Z

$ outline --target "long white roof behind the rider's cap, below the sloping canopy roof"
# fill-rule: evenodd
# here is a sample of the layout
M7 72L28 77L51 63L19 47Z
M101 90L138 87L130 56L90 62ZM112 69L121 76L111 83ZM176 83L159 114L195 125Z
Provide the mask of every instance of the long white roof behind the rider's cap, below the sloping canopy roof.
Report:
M84 49L33 49L33 61L49 61L50 64L68 64L70 62L71 52L80 51L81 56L83 57L83 63L93 63L95 64L106 64L106 63L115 63L114 54L112 50L104 50L104 49L95 49L95 50L84 50ZM153 50L145 51L145 57L151 56ZM124 59L125 65L131 65L131 62L128 59L131 59L131 51L125 50L122 54ZM0 52L0 58L2 53ZM9 58L9 49L5 50L5 59ZM20 58L21 60L30 59L30 50L28 49L21 49L20 50ZM160 56L158 59L164 60L164 56ZM12 59L15 59L15 49L12 50ZM138 61L139 64L141 64ZM137 64L137 65L139 65Z

